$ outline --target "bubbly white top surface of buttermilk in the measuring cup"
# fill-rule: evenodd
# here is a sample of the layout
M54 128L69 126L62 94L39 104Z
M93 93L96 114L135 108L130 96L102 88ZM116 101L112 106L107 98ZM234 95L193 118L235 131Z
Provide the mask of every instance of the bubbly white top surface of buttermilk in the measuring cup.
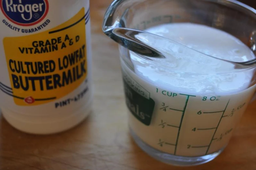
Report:
M145 31L230 61L244 62L255 58L252 51L239 39L204 25L172 23L151 27ZM167 57L154 58L153 63L131 53L136 74L152 84L188 94L230 94L245 90L250 85L253 76L251 70L234 70L233 64L145 34L137 38L157 47ZM226 73L219 74L220 72Z

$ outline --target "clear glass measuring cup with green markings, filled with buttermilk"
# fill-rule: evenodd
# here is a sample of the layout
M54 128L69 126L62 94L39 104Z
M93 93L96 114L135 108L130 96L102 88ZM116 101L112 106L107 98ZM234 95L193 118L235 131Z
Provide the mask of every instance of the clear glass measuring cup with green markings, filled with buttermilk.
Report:
M209 63L227 63L187 49L186 55L199 53L202 69L187 70L187 66L177 69L166 62L165 56L178 55L186 47L173 42L179 50L164 51L159 45L150 43L156 35L145 33L143 36L142 32L135 34L120 28L145 30L163 23L198 23L235 36L253 51L255 21L255 10L234 0L116 0L111 4L105 14L103 30L120 43L130 131L145 152L175 165L196 165L216 158L227 146L235 125L255 92L255 68L245 69L228 63L228 67L222 70L207 70L207 67L212 67ZM166 39L158 39L169 43ZM148 64L149 69L139 71L137 61ZM160 78L147 79L152 73L147 74L147 71L152 68L172 75L174 81L182 77L194 86L199 80L216 76L227 79L240 73L251 76L246 88L232 93L207 88L198 93L186 88L177 90L175 85L169 85L163 79L159 81ZM229 86L235 89L234 82Z

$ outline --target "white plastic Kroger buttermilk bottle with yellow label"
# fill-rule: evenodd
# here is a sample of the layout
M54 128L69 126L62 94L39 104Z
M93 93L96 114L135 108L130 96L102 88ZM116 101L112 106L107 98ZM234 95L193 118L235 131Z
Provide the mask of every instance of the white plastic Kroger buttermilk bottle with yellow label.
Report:
M0 107L16 129L65 131L92 102L89 0L0 0Z

